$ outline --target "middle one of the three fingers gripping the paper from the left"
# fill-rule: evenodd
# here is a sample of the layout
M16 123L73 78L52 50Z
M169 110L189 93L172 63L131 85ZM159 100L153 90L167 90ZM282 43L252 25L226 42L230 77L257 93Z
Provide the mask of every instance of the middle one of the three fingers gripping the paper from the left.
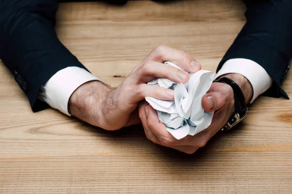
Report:
M147 61L141 65L141 67L131 75L138 83L146 83L157 78L168 78L176 83L186 83L189 80L189 73L178 69L176 67L166 65L155 61Z

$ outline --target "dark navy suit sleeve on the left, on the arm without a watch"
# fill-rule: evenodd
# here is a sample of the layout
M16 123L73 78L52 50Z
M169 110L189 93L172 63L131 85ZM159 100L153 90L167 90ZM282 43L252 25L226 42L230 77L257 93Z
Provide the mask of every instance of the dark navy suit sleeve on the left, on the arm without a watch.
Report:
M86 69L58 40L57 0L0 0L0 59L14 74L34 112L48 105L41 86L68 66Z

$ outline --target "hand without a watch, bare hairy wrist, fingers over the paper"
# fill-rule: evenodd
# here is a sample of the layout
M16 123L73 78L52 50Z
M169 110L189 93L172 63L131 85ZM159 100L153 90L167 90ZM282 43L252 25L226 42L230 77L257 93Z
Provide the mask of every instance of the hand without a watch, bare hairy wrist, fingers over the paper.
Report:
M170 61L183 70L165 65ZM74 91L69 100L69 113L91 125L107 130L141 123L138 104L145 97L163 100L174 99L174 91L168 88L147 85L154 77L186 83L189 73L201 69L193 57L183 50L167 46L154 49L116 89L100 81L90 81Z

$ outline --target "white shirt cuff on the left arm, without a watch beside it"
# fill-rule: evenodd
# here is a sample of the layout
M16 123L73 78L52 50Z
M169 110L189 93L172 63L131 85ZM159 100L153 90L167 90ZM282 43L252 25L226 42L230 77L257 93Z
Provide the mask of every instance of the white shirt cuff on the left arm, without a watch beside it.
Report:
M66 67L55 73L42 86L38 98L52 108L71 116L68 112L69 98L80 85L92 80L100 81L100 79L83 68L76 66Z

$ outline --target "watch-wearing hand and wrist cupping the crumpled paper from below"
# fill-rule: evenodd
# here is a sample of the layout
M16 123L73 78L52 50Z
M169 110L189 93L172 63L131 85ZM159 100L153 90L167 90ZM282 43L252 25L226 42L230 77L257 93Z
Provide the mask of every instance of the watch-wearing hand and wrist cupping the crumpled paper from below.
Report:
M241 88L246 103L250 102L253 96L253 88L244 76L227 74L221 77L227 77L235 81ZM149 140L162 146L192 154L198 148L205 146L208 140L222 129L229 118L235 114L234 94L231 86L225 83L213 83L207 94L202 97L202 106L207 112L215 111L211 125L200 133L194 136L187 135L181 140L175 139L165 129L164 124L159 122L156 111L146 102L141 104L139 115Z

